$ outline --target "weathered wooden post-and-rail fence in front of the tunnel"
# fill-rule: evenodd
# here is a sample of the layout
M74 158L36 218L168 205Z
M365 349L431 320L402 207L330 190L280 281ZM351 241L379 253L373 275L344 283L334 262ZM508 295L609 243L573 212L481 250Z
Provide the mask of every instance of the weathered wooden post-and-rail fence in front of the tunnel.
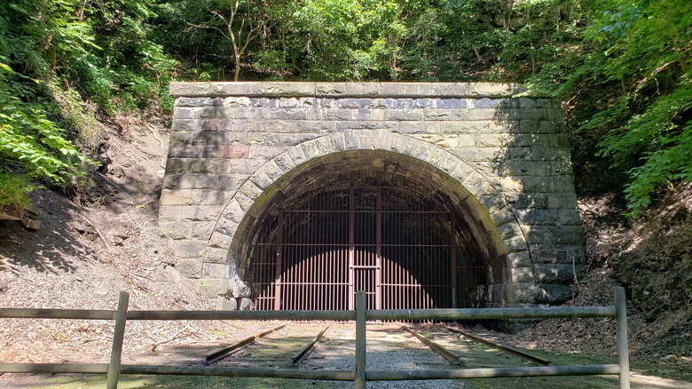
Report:
M625 290L615 289L614 306L562 306L547 308L476 309L366 309L366 294L358 291L355 311L128 311L130 295L121 292L117 311L78 309L1 308L0 318L114 320L115 332L110 363L0 363L0 373L106 374L107 388L116 388L121 374L153 374L221 377L271 377L355 381L450 379L486 377L547 377L619 375L620 388L629 388L629 353ZM612 317L617 320L617 364L541 366L497 369L441 369L366 371L366 321L368 320L507 320L575 317ZM355 370L248 369L209 366L121 364L125 323L130 320L300 320L356 321Z

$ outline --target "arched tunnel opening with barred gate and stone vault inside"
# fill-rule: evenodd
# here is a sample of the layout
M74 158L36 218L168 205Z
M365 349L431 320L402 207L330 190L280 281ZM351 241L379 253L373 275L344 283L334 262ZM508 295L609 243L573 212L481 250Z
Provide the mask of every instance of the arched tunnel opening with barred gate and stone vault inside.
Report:
M255 309L502 306L507 257L483 206L435 166L383 150L324 155L267 187L231 258Z

